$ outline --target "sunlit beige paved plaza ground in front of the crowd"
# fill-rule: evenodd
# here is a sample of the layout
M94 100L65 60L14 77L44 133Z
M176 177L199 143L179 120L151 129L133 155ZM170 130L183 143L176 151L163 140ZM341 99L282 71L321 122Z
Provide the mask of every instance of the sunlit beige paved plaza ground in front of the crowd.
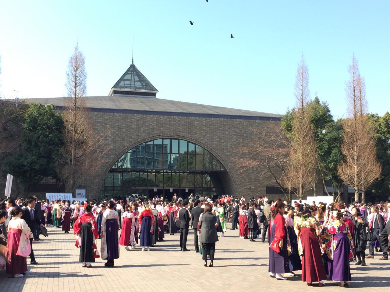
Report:
M230 224L229 224L230 228ZM28 264L24 278L8 278L0 271L0 292L65 292L65 291L261 291L300 289L340 291L337 282L326 281L326 287L308 287L300 276L277 281L268 275L267 243L249 242L238 237L238 230L228 230L216 243L214 267L204 267L202 258L194 252L193 232L190 229L187 247L180 252L179 234L165 235L150 252L141 248L126 251L121 246L115 267L104 267L97 259L92 269L78 262L79 249L74 246L73 234L48 227L50 236L34 242L39 265ZM100 243L98 243L100 246ZM390 261L367 260L367 266L351 265L351 288L354 291L379 291L390 287ZM29 262L29 259L28 259ZM298 271L300 275L300 271Z

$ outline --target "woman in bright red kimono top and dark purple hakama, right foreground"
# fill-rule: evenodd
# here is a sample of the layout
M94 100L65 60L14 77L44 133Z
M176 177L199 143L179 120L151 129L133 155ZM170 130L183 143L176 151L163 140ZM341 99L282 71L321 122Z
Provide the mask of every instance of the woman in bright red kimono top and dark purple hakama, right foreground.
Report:
M269 276L278 280L287 280L282 274L288 273L288 253L287 253L287 229L283 218L284 203L275 201L271 209L271 222L269 229Z

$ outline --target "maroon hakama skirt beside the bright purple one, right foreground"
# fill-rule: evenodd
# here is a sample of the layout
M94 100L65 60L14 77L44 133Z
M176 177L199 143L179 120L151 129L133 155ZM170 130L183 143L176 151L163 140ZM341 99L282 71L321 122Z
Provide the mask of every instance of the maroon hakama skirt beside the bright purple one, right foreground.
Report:
M314 228L301 228L302 281L313 283L326 280L321 248Z

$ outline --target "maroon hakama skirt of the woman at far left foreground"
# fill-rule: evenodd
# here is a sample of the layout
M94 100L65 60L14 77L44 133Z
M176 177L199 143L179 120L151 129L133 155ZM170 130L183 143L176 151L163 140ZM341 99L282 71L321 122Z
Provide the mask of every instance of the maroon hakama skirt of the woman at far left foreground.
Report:
M8 233L8 245L7 245L7 266L5 273L9 275L16 275L26 273L27 260L25 257L16 255L19 248L20 236L22 234L21 229L11 228Z

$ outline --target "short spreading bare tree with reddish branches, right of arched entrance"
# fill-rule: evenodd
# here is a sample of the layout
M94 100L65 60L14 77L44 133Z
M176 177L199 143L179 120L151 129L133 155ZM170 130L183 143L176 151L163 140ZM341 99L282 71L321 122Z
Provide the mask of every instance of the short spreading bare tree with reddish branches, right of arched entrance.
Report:
M236 149L236 152L246 153L245 157L232 158L240 173L248 168L266 165L259 169L259 178L271 174L276 185L282 190L286 199L291 201L291 193L286 192L283 176L286 171L289 141L283 134L279 122L270 122L268 127L252 129L255 138L248 144Z

